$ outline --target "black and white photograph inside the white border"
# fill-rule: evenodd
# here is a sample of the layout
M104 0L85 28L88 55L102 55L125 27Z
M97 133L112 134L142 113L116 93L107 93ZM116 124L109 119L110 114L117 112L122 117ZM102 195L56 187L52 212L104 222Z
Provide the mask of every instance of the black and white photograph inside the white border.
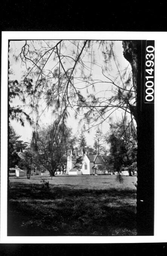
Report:
M155 40L54 38L6 45L7 237L154 236Z

